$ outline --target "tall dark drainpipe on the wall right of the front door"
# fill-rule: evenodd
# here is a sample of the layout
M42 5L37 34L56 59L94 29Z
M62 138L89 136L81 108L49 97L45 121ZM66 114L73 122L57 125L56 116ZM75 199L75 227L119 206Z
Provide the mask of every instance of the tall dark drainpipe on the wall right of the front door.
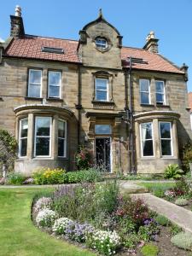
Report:
M129 67L129 119L130 119L130 149L131 149L131 174L136 174L136 167L135 167L135 144L134 144L134 118L132 113L132 86L131 86L131 71L132 71L132 59L129 58L130 67Z

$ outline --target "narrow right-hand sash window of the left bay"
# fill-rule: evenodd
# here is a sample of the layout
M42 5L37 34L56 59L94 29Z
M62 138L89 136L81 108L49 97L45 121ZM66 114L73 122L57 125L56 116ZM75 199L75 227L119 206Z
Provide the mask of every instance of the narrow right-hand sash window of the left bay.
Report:
M66 157L67 145L67 124L66 121L59 119L58 121L58 156Z

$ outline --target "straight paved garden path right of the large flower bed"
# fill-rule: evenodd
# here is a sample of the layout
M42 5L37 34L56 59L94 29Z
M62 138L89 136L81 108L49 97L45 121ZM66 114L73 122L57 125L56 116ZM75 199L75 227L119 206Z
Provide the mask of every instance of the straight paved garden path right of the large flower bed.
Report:
M169 201L165 201L159 197L151 195L149 193L145 194L135 194L131 195L133 198L141 198L148 204L148 207L154 212L158 212L161 215L169 218L172 223L177 224L183 230L192 233L192 212L184 209L183 207L178 207Z

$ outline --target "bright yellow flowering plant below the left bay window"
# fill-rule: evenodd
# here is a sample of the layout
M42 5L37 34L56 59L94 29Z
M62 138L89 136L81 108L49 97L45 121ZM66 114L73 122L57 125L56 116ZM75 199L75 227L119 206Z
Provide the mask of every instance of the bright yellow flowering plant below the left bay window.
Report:
M64 169L55 168L40 168L33 172L32 177L34 182L38 185L43 184L61 184L67 183L67 177L64 175L66 171Z

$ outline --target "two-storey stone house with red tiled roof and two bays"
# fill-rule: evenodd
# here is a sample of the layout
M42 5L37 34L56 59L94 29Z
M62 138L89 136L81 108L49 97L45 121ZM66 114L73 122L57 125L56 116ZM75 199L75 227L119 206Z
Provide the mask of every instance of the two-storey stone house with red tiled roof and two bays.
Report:
M189 141L188 67L158 52L125 47L99 17L79 41L25 33L20 7L0 44L0 128L15 134L15 172L75 169L80 144L108 172L162 173Z

